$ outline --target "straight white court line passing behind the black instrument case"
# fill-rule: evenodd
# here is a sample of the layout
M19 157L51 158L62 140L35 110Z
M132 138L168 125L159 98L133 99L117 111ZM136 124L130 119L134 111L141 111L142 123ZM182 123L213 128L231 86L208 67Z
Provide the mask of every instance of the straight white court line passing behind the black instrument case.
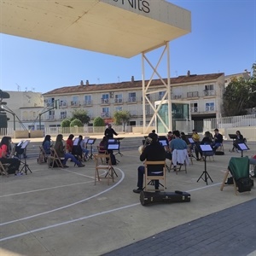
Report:
M122 172L121 170L119 170L119 171ZM124 174L124 172L122 172L122 174ZM217 186L219 184L220 183L216 183L216 184L207 185L207 186L204 186L204 187L201 187L201 188L198 188L198 189L190 189L187 192L192 192L192 191L200 190L200 189L207 189L207 188ZM100 194L102 194L102 193L100 193ZM100 195L100 194L98 194L98 195ZM125 207L114 208L114 209L111 209L111 210L108 210L108 211L105 211L105 212L97 212L97 213L91 214L89 216L84 216L84 217L81 217L81 218L75 218L75 219L72 219L72 220L61 222L59 224L52 224L52 225L49 225L49 226L46 226L46 227L43 227L43 228L39 228L39 229L36 229L36 230L26 231L26 232L23 232L23 233L14 235L14 236L6 236L6 237L1 238L0 241L6 241L6 240L14 239L14 238L20 237L20 236L32 235L32 233L35 233L35 232L38 232L38 231L48 230L48 229L59 227L61 225L65 225L65 224L71 224L73 222L77 222L77 221L84 220L84 219L87 219L87 218L93 218L93 217L100 216L100 215L103 215L103 214L107 214L107 213L110 213L110 212L116 212L116 211L123 210L123 209L129 208L129 207L136 207L139 204L140 203L135 203L135 204L131 204L131 205L128 205L128 206L125 206Z

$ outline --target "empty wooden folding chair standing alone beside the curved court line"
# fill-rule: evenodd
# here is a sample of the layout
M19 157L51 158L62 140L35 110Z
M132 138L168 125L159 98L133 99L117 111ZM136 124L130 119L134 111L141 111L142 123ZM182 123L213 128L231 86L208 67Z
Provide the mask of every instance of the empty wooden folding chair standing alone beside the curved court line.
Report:
M108 185L109 185L109 180L112 179L113 181L113 173L114 173L113 166L110 159L110 154L95 154L94 159L96 161L94 184L96 185L96 181L100 182L102 178L107 178ZM100 177L99 170L106 171L105 177Z

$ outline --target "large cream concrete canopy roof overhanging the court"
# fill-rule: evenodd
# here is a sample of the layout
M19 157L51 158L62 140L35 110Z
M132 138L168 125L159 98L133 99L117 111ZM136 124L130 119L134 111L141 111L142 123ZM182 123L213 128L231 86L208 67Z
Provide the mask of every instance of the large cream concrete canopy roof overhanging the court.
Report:
M0 32L130 58L191 31L164 0L1 1Z

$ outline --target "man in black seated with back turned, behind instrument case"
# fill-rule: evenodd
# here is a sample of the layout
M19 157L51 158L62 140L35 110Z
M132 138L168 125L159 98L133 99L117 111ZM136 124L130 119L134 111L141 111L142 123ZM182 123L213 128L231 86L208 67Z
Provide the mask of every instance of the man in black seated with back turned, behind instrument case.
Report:
M143 152L140 155L140 160L148 161L161 161L166 160L166 150L159 143L156 133L149 133L148 137L152 139L151 143L143 148ZM148 166L148 172L159 172L163 170L163 166ZM134 193L140 193L143 191L143 176L145 172L144 166L137 168L137 189L133 189ZM154 181L154 189L159 189L159 180Z

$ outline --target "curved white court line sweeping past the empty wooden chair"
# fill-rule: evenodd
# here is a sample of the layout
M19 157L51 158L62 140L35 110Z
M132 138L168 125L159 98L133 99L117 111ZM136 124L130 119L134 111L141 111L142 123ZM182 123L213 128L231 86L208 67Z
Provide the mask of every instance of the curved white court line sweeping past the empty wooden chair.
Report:
M29 218L35 218L35 217L38 217L38 216L41 216L41 215L44 215L44 214L47 214L47 213L50 213L50 212L60 211L60 210L65 209L67 207L73 207L73 206L75 206L75 205L77 205L79 203L82 203L84 201L88 201L88 200L90 200L90 199L92 199L92 198L94 198L94 197L96 197L98 195L102 195L102 194L108 192L109 190L115 188L116 186L118 186L119 183L121 183L123 181L123 179L125 178L125 173L121 169L119 169L119 168L116 168L116 169L118 169L119 172L121 172L121 174L122 174L122 177L120 178L118 183L113 184L113 186L111 186L110 188L105 189L105 190L103 190L102 192L100 192L100 193L98 193L96 195L91 195L90 197L84 198L83 200L80 200L80 201L73 202L72 204L69 204L69 205L64 206L64 207L55 208L53 210L49 210L47 212L41 212L41 213L38 213L38 214L34 214L32 216L27 216L25 218L19 218L19 219L11 220L9 222L5 222L5 223L0 224L0 226L6 225L6 224L12 224L12 223L15 223L15 222L18 222L18 221L21 221L21 220L26 220L26 219L29 219Z

